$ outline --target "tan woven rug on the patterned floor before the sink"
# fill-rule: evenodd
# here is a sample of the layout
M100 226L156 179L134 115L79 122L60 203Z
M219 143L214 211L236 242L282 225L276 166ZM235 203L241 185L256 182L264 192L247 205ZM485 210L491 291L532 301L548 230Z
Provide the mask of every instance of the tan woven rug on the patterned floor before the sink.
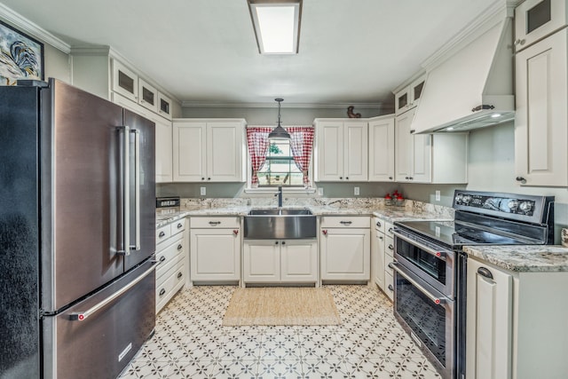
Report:
M340 325L327 288L236 288L223 325Z

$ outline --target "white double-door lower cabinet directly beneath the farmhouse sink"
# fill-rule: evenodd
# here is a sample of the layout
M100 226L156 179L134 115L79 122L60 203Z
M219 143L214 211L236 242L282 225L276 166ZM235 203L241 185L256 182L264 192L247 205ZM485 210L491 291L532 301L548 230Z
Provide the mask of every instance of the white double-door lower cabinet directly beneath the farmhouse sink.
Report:
M248 240L244 242L245 283L315 283L317 240Z

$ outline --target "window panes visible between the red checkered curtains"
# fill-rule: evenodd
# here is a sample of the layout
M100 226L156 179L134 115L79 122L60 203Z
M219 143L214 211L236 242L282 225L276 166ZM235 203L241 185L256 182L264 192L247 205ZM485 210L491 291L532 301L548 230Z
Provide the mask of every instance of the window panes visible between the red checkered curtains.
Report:
M258 170L258 186L304 186L304 174L296 166L290 141L270 141L266 161Z

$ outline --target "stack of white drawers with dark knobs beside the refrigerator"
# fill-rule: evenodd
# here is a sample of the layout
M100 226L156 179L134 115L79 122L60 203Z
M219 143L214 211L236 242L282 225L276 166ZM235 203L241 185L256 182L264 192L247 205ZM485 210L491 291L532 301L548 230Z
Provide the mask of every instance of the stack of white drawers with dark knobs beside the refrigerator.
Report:
M156 230L156 313L184 287L185 283L185 218Z

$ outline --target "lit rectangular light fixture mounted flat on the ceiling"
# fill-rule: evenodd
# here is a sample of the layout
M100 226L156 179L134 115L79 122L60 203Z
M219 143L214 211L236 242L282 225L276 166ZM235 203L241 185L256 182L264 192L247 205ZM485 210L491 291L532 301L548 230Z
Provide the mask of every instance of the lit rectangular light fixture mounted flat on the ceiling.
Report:
M302 0L247 0L261 54L296 54Z

